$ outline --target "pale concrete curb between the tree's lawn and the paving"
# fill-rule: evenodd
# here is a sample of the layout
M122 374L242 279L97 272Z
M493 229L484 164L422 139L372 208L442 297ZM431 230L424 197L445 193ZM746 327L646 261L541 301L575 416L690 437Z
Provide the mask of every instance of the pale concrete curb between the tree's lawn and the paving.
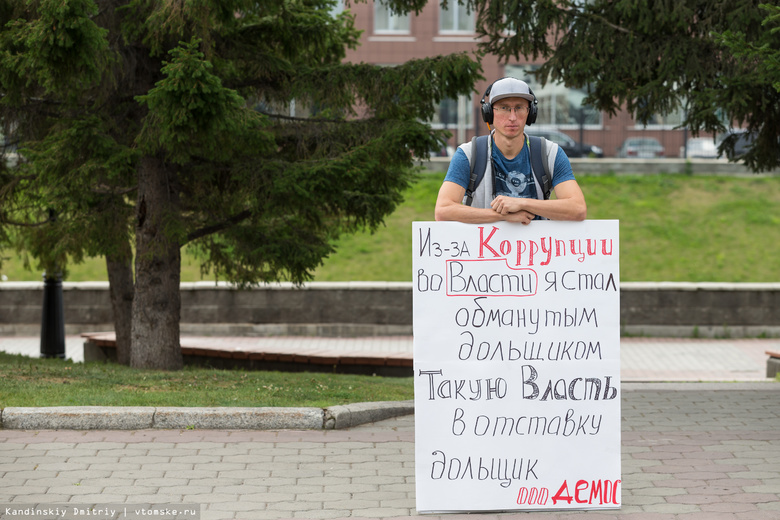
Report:
M176 408L142 406L8 407L6 430L339 430L414 413L414 401L331 408Z

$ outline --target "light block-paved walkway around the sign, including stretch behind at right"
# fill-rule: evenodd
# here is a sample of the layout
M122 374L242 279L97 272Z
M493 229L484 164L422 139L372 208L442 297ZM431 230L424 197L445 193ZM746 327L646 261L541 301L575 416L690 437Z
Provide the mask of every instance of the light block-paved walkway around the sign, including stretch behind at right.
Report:
M763 351L778 341L621 346L621 508L468 518L780 519L780 384L763 377ZM13 514L29 504L100 520L110 517L72 510L165 504L197 508L203 520L417 517L414 415L343 430L0 430L0 519L52 518Z

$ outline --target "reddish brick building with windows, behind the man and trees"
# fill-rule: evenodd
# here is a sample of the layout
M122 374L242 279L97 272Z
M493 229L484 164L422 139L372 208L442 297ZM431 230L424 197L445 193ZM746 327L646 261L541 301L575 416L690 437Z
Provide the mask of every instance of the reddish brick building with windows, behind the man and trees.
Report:
M461 5L451 3L449 9L443 9L438 2L429 2L419 15L398 15L373 0L351 3L349 9L355 14L357 28L364 31L361 45L347 53L347 60L352 62L394 65L426 56L473 52L477 48L474 14ZM514 76L527 81L539 100L535 129L557 130L575 141L599 146L606 157L615 156L628 137L655 138L663 145L666 157L680 155L687 136L686 131L675 129L682 120L681 114L659 116L646 127L637 125L627 113L610 118L593 108L583 108L582 91L562 84L540 86L528 73L538 64L532 61L502 64L498 59L484 58L486 80L475 85L479 93L443 102L433 125L450 130L451 147L475 134L487 133L479 112L482 93L493 80Z

